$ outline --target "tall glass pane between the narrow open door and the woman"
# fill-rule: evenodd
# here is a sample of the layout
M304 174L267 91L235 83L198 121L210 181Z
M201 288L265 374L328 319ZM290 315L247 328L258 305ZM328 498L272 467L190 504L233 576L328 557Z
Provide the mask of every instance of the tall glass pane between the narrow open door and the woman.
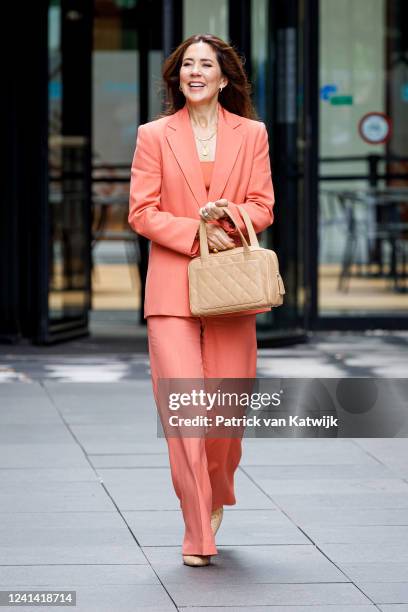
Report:
M137 239L128 226L129 168L141 121L135 1L95 0L93 42L92 323L140 308ZM146 119L145 119L146 120ZM119 312L118 312L119 311ZM128 315L125 315L128 311Z

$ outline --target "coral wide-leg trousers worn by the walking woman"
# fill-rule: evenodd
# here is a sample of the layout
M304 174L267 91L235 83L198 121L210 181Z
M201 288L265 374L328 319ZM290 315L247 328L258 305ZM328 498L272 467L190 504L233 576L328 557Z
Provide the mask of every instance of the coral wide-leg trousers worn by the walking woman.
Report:
M159 378L255 378L256 315L147 317L153 393ZM234 505L240 438L167 437L185 523L183 555L216 555L211 512Z

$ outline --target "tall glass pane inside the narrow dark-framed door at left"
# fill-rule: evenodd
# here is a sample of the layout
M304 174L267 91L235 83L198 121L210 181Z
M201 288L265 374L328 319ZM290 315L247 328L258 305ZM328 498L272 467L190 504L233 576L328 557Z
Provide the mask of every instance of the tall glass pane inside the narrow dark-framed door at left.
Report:
M67 60L73 48L74 18L83 16L75 11L72 16L63 6L53 0L48 11L50 332L58 326L79 325L89 308L89 139L81 121L78 129L75 126L72 64ZM87 99L84 95L85 116Z

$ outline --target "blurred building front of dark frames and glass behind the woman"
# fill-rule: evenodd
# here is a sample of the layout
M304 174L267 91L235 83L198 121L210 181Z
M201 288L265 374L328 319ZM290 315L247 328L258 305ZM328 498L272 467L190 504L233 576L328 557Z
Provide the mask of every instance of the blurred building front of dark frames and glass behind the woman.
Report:
M161 112L164 57L199 32L245 56L270 135L275 222L262 243L287 294L257 317L260 342L408 328L405 0L7 5L3 342L143 325L149 244L127 224L136 131Z

